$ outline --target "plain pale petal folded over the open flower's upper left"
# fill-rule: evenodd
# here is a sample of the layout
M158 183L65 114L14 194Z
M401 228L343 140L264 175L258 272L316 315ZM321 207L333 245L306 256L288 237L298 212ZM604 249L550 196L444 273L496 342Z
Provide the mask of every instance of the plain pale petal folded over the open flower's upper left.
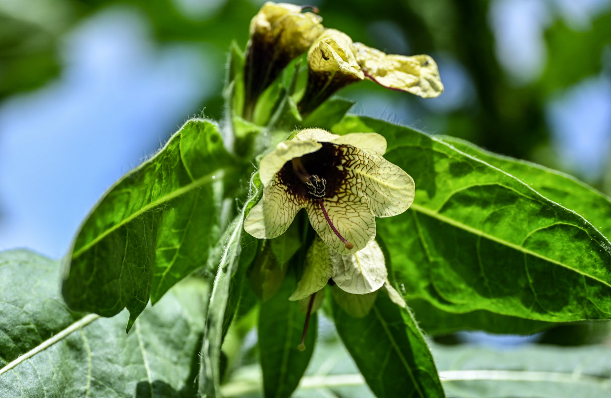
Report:
M280 171L287 161L301 157L306 153L316 152L321 147L323 146L319 142L310 140L291 139L290 141L280 142L276 149L269 152L261 160L259 178L263 186L267 186L274 179L274 174Z

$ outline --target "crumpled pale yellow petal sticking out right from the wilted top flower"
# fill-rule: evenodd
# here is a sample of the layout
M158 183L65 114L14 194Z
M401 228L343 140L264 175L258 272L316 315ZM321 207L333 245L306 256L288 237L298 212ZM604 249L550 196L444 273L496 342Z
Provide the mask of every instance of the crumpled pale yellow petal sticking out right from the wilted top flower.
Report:
M444 91L437 64L428 55L387 55L362 43L354 43L353 48L365 76L381 86L422 98L437 97Z

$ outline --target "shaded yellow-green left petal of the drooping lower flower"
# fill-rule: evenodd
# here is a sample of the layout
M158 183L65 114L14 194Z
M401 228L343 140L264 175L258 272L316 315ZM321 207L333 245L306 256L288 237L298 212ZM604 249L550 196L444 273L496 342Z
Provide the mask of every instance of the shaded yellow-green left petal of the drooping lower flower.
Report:
M304 272L297 289L288 300L302 300L326 286L333 276L329 248L320 238L314 238L305 255Z

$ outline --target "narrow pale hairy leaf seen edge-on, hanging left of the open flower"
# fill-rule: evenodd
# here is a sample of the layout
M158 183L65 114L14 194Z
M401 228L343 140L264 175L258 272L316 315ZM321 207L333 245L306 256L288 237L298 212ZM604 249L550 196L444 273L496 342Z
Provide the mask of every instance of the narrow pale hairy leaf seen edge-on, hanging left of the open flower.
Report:
M260 184L260 183L258 183ZM229 323L225 323L225 317L233 317L237 304L230 303L232 296L233 276L238 267L243 266L241 262L242 235L244 230L244 218L249 210L257 203L260 191L256 190L251 181L251 194L244 204L240 214L236 216L233 223L225 230L222 238L224 251L219 261L216 277L214 278L213 289L208 303L208 314L203 333L202 353L199 370L199 394L202 397L216 397L221 390L221 345L224 333L229 329ZM249 238L246 238L249 240ZM251 245L252 246L252 245ZM245 255L246 257L246 255ZM252 257L247 256L250 260ZM246 266L248 264L245 264ZM234 289L239 289L235 286ZM228 310L228 307L230 308Z

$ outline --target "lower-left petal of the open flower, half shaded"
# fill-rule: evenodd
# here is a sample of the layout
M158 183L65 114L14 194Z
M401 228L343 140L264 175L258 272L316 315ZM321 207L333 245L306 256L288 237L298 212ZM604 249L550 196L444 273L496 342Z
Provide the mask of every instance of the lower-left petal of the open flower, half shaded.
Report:
M259 239L276 238L288 229L297 212L304 207L298 197L287 195L285 187L274 179L265 186L263 197L244 220L244 230Z

